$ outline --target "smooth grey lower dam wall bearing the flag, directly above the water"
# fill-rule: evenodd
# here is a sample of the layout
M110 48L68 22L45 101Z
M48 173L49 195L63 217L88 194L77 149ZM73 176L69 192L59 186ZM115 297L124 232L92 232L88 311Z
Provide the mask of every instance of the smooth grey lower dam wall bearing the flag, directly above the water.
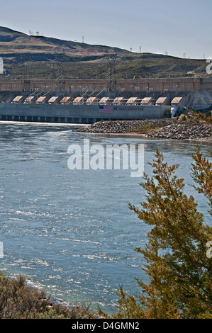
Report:
M41 123L91 124L101 120L132 120L164 118L164 106L21 104L0 103L0 120Z

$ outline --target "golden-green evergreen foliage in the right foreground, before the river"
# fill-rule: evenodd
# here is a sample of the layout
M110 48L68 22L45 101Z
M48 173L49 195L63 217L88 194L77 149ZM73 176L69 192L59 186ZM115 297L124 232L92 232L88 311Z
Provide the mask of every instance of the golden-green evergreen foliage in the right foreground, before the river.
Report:
M191 156L196 189L212 207L212 163L203 158L199 147ZM184 179L175 174L178 165L169 166L159 151L155 157L150 163L152 176L145 174L140 184L146 201L141 209L129 204L151 227L145 249L135 249L145 258L149 283L137 279L142 293L136 296L127 296L121 286L113 318L212 318L212 258L206 255L212 228L197 211L194 197L184 194Z

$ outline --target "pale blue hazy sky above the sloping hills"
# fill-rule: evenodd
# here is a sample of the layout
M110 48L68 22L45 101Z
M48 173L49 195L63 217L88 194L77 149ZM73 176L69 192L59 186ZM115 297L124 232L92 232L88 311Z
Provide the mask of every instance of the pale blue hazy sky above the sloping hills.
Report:
M0 26L29 34L212 57L211 0L1 0Z

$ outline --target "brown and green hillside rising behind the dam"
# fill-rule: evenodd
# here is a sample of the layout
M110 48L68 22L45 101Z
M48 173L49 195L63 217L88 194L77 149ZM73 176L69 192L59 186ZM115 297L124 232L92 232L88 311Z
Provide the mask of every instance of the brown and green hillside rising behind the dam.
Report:
M58 72L63 79L103 79L114 52L116 78L208 77L205 60L135 53L0 27L0 57L10 69L11 79L54 79Z

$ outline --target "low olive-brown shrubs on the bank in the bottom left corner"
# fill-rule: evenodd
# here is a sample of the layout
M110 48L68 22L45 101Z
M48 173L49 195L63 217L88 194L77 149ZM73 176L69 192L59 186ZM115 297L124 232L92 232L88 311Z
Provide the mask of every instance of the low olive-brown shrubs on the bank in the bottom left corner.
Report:
M45 291L26 286L26 279L7 278L0 272L0 319L91 319L94 312L89 306L72 308L52 304Z

